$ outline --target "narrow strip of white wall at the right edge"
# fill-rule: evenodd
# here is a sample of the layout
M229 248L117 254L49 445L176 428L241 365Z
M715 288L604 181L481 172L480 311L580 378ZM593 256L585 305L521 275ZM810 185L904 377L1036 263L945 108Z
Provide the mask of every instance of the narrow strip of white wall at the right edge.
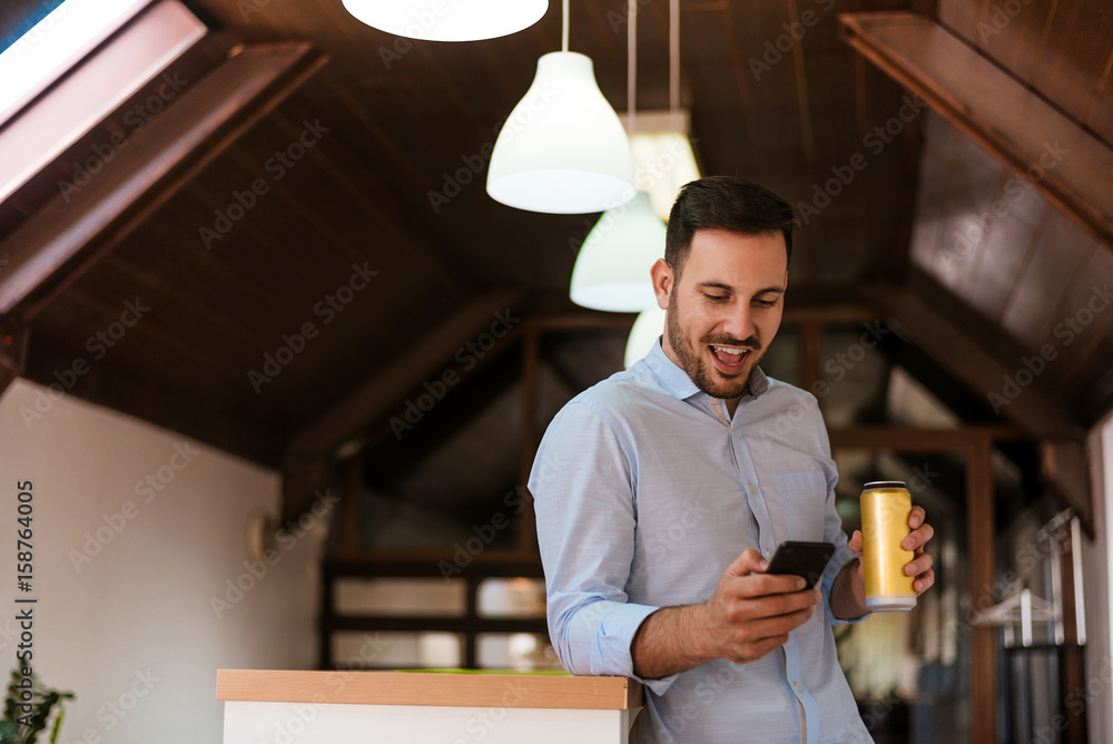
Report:
M1093 542L1083 540L1082 576L1086 600L1086 716L1091 742L1113 742L1113 685L1110 635L1113 576L1109 567L1113 529L1113 417L1095 427L1089 441L1094 497Z

